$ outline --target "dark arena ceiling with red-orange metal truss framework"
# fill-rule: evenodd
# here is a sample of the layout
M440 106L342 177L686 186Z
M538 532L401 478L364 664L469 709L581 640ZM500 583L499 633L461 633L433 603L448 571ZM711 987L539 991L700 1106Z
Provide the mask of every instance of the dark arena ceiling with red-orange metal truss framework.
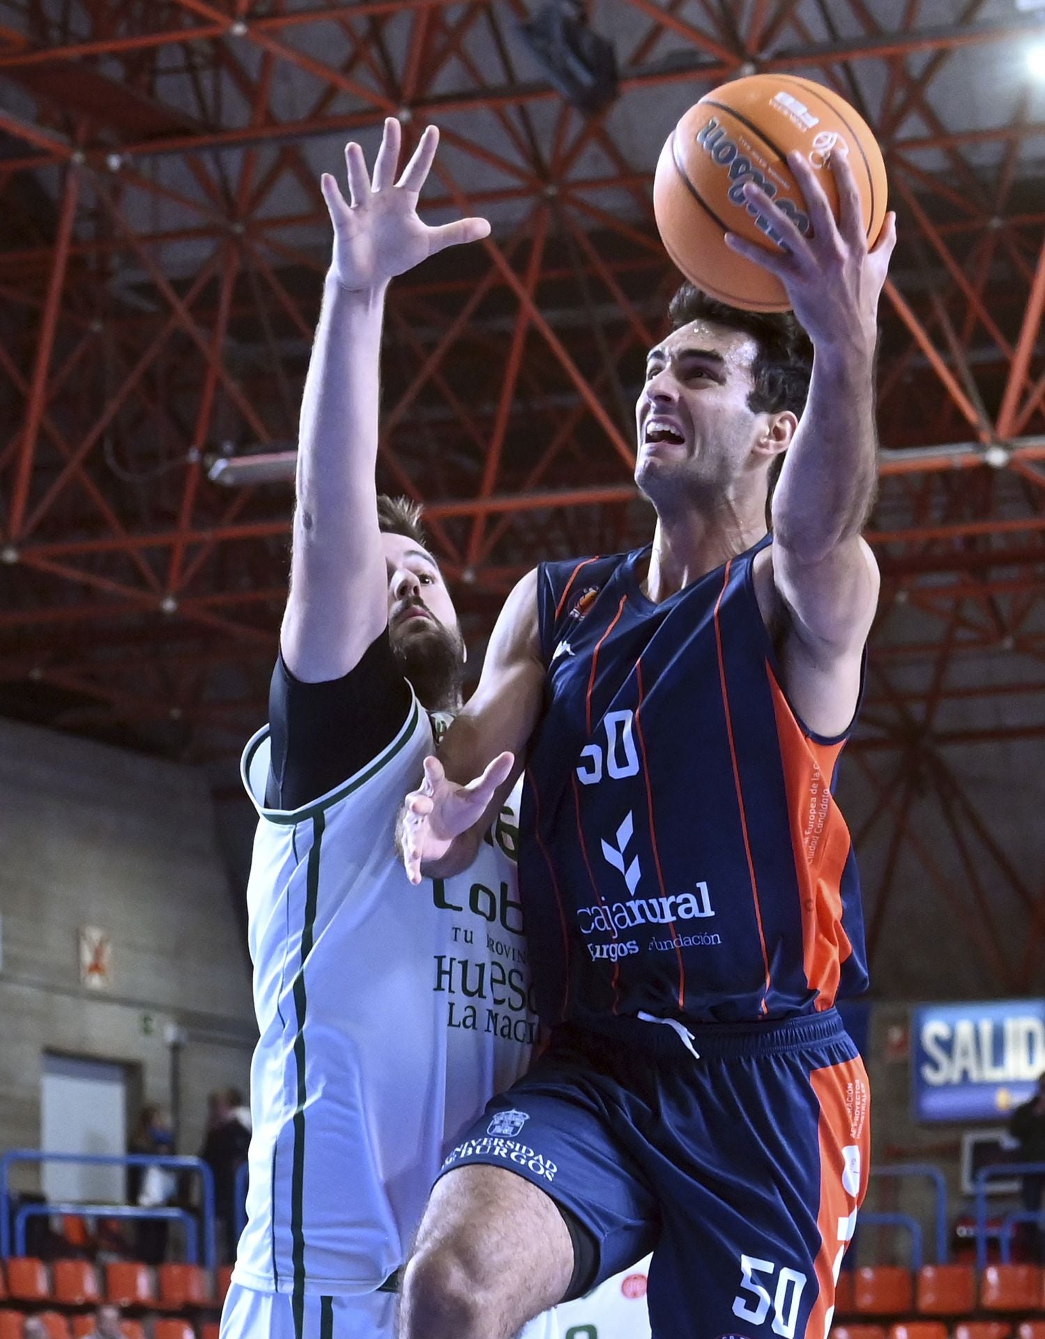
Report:
M648 534L632 404L677 283L653 165L701 92L792 71L863 111L899 214L854 744L875 799L858 837L883 853L871 935L929 787L962 868L1020 909L1026 956L998 965L990 928L983 953L1025 987L1041 876L953 758L1045 734L1045 7L594 0L620 83L593 115L522 40L537 8L0 0L0 711L230 778L264 719L292 497L209 475L293 449L318 174L388 114L442 130L427 216L494 224L395 285L385 349L381 482L428 503L471 639L538 558Z

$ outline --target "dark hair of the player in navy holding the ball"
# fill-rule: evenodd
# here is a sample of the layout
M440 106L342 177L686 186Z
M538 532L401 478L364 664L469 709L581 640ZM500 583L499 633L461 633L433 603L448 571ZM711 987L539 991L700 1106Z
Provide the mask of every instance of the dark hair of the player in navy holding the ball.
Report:
M757 352L751 364L752 390L748 408L756 414L779 414L791 410L801 416L812 376L812 341L791 312L745 312L710 297L694 284L685 283L668 307L672 329L690 321L715 321L727 329L751 335ZM784 457L769 466L769 490L765 498L765 521Z

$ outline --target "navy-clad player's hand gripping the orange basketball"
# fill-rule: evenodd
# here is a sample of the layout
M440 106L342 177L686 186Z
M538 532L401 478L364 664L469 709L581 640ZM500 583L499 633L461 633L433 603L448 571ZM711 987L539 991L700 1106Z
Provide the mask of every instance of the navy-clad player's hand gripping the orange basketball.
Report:
M814 344L844 351L859 343L862 352L874 356L878 300L896 245L896 216L886 214L878 241L868 246L848 157L838 150L831 154L830 170L838 185L838 221L808 159L791 153L787 161L801 187L812 234L803 236L760 186L748 182L745 200L772 220L784 245L769 250L735 233L727 234L727 245L777 276Z

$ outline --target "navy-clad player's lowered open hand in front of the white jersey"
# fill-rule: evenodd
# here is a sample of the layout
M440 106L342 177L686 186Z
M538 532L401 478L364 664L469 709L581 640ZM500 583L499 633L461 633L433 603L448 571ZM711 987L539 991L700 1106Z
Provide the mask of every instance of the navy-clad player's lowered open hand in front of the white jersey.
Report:
M407 795L399 832L403 866L412 884L421 881L421 865L442 860L454 840L479 822L514 761L510 753L498 754L482 777L459 786L438 758L424 759L424 781Z

